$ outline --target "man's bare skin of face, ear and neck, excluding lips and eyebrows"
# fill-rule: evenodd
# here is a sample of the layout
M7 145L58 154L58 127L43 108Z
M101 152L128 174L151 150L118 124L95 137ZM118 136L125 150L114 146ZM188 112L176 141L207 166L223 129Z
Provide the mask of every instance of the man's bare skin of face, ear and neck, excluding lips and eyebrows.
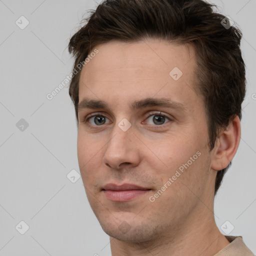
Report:
M239 118L220 131L209 151L207 116L196 89L191 45L148 39L111 41L96 48L98 53L81 71L79 102L86 97L103 100L109 107L79 109L77 153L88 201L110 236L112 256L216 254L229 242L214 220L214 181L217 170L226 167L237 150ZM183 72L178 80L169 75L173 67ZM178 101L185 110L130 108L134 100L147 97ZM153 117L159 111L166 117L155 124ZM89 114L103 115L103 124ZM131 124L127 131L118 126L123 118ZM149 196L197 151L200 156L151 202ZM132 183L151 190L113 202L102 192L107 183Z

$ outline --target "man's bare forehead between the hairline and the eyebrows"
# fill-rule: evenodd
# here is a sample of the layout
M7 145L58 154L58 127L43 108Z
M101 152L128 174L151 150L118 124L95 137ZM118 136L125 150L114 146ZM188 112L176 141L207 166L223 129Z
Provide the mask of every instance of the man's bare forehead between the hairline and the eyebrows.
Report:
M195 95L189 93L195 93L196 64L191 45L150 39L110 41L95 48L98 53L81 70L79 101L86 96L120 103L121 97L140 99L166 93L176 101L178 95L183 95L183 101L193 101Z

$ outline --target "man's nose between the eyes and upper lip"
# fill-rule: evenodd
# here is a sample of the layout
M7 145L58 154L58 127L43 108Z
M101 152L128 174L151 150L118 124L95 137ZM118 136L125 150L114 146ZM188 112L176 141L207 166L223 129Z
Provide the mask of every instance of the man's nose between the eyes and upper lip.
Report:
M103 163L113 169L134 167L139 163L139 145L132 126L123 131L118 123L111 132L103 155Z

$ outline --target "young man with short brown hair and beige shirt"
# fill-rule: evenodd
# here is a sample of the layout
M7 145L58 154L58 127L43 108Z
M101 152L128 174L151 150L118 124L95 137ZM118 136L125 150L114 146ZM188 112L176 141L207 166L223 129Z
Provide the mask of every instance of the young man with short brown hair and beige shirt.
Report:
M213 213L241 134L241 32L202 0L105 0L86 21L69 94L112 256L253 255Z

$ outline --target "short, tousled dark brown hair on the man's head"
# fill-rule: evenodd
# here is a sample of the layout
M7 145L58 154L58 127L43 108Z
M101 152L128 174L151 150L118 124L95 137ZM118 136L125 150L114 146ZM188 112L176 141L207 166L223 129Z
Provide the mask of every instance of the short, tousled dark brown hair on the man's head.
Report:
M219 128L226 127L236 115L241 119L246 89L240 51L242 33L233 25L224 26L229 24L228 20L214 12L213 7L216 6L203 0L104 0L82 20L86 24L70 39L68 50L75 56L74 67L95 46L111 40L159 38L191 43L196 53L195 74L205 104L212 150ZM80 70L72 75L69 95L78 121ZM214 194L230 164L217 172Z

